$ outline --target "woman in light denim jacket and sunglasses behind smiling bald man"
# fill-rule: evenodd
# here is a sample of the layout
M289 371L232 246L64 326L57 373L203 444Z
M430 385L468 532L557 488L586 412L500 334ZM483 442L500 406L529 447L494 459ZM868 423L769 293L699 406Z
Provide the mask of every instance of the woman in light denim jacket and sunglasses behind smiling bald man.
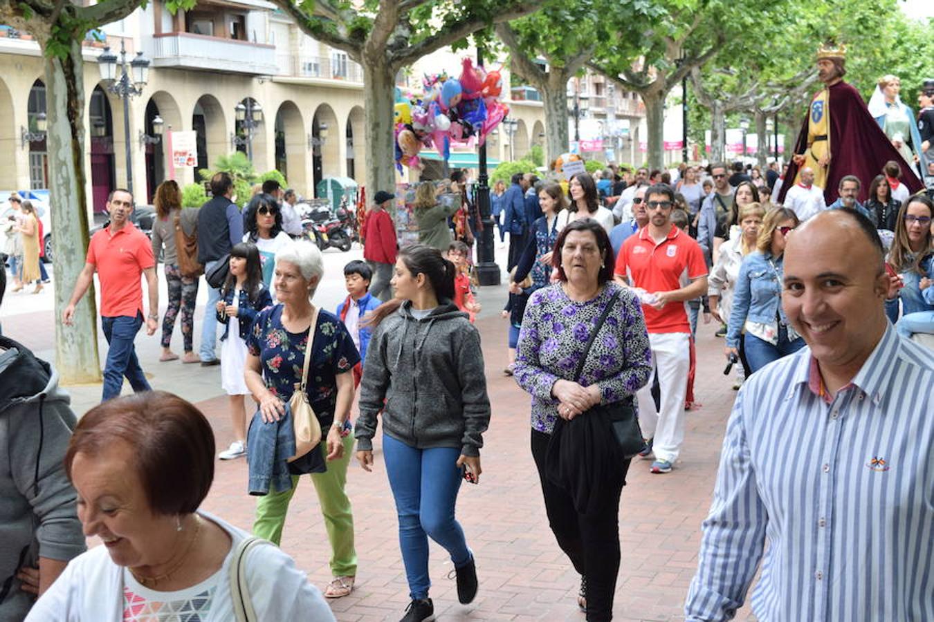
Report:
M740 267L729 313L726 353L728 358L738 357L742 337L752 373L804 346L804 339L788 324L782 311L785 236L798 224L798 216L788 208L766 214L757 250L746 256Z

